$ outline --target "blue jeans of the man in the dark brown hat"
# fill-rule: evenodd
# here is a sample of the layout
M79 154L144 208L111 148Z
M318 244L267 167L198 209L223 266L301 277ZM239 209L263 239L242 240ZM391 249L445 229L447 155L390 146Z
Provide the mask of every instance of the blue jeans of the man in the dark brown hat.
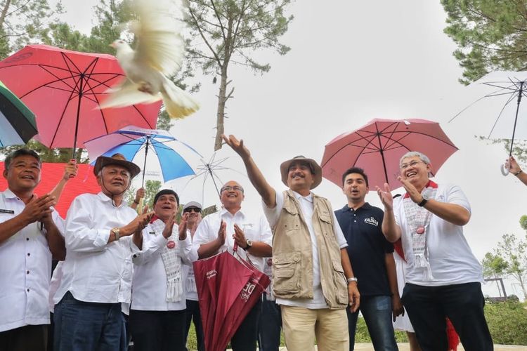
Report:
M126 351L120 303L86 303L68 291L53 314L54 351Z

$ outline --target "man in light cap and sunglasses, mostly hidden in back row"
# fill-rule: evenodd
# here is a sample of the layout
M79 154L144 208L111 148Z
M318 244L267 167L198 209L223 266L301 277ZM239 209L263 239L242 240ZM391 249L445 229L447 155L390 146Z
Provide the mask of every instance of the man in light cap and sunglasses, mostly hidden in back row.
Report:
M197 226L201 222L202 207L199 202L190 201L183 206L183 215L188 213L187 219L187 235L190 240L194 240L194 234ZM196 332L197 351L204 351L205 344L203 338L203 326L201 323L200 304L197 299L196 280L194 277L194 267L190 265L187 275L187 324L185 332L185 343L188 338L188 331L190 331L190 322L194 322L194 329Z

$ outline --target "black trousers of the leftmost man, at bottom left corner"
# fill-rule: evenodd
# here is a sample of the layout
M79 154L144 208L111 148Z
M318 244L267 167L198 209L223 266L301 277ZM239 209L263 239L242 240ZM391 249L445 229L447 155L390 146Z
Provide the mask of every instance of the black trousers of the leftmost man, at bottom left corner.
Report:
M20 326L0 332L0 351L46 351L48 324Z

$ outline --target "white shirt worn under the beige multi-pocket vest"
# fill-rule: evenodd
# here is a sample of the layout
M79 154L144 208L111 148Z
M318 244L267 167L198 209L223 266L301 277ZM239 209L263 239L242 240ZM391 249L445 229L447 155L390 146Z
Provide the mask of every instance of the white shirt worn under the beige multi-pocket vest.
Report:
M274 227L280 218L282 213L282 208L284 207L284 194L282 192L276 192L276 206L275 208L268 208L266 204L262 201L263 212L266 214L267 220L271 227ZM315 230L313 229L313 194L310 192L308 196L303 197L298 192L293 192L294 197L297 198L300 204L300 209L304 220L306 220L306 225L308 227L309 236L311 237L311 251L313 253L313 299L285 299L285 298L276 298L276 303L278 305L286 306L297 306L305 307L309 309L317 308L327 308L327 303L324 298L322 291L322 286L320 285L320 263L318 262L318 245L315 236ZM337 239L337 244L339 244L340 249L348 246L346 238L342 233L340 225L337 222L337 217L333 214L333 231L335 234L335 239Z

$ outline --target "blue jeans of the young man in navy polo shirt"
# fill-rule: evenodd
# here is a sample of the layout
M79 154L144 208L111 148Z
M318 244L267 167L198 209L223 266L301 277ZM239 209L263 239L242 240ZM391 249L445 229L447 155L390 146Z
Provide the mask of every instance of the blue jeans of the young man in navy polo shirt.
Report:
M360 312L363 313L367 331L372 338L373 348L376 351L398 350L393 331L390 296L360 296ZM358 311L348 314L349 350L355 347L355 329L357 326Z

